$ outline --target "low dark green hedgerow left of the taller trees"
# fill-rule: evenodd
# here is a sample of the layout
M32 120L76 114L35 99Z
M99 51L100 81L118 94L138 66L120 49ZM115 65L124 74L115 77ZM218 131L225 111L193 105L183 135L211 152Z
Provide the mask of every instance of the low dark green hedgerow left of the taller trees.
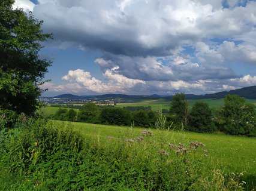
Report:
M147 107L138 107L137 110L121 109L116 107L100 107L89 102L77 110L59 108L53 119L64 121L79 121L106 125L131 125L137 127L153 127L156 114Z

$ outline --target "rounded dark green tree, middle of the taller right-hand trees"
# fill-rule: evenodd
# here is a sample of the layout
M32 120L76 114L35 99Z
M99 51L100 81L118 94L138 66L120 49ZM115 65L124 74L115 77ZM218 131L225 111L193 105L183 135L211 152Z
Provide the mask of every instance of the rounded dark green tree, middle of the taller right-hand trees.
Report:
M189 131L198 133L212 133L216 127L212 121L212 111L208 104L196 102L189 114Z

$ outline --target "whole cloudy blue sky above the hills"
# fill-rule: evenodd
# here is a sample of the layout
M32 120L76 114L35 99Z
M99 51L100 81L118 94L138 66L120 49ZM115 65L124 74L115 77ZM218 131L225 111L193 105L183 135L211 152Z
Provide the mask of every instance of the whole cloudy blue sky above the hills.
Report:
M44 96L206 94L256 85L256 1L16 0L43 20Z

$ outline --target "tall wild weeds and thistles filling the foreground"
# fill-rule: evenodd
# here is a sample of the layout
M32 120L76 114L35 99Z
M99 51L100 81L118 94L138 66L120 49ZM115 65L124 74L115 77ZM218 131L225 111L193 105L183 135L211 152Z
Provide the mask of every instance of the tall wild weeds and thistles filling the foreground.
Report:
M0 190L242 190L203 143L165 136L171 130L102 137L44 120L16 126L0 134Z

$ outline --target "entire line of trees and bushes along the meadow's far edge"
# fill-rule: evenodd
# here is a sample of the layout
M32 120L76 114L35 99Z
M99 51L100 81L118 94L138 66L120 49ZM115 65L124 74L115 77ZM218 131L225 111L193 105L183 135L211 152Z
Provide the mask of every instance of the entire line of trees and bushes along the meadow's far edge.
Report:
M198 133L220 131L233 135L256 136L256 111L252 103L237 95L227 95L223 107L209 108L207 103L196 101L191 110L185 94L176 94L170 104L170 111L163 112L167 124L173 128ZM159 111L158 111L159 112ZM106 125L131 125L136 127L155 126L156 115L150 107L100 107L86 103L76 112L73 109L59 108L51 119L88 122Z

